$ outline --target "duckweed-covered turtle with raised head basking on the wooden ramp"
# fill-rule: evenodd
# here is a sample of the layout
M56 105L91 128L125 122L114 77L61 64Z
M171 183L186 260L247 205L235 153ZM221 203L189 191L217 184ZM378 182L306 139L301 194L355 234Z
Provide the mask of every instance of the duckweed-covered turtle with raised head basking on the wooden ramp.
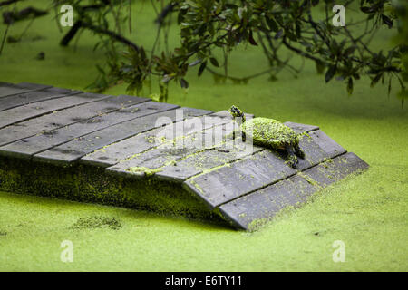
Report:
M246 121L244 112L234 105L229 109L229 113L234 121L236 118L241 118L242 141L245 142L247 133L252 131L251 136L255 145L285 152L288 164L294 169L298 163L297 157L305 158L305 152L299 147L302 134L296 133L282 122L263 117ZM232 138L235 140L235 137L235 131L233 131Z

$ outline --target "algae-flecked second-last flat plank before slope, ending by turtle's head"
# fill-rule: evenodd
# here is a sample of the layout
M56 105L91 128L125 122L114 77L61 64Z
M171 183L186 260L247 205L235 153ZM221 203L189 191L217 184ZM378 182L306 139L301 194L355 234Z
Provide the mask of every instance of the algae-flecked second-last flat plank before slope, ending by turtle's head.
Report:
M174 136L175 139L166 140L161 145L159 140L159 142L157 143L159 143L160 146L158 146L157 143L153 144L156 146L153 150L147 150L145 152L142 152L141 154L132 156L132 158L129 160L121 161L115 166L107 169L108 172L112 174L129 175L132 178L143 178L145 176L145 171L139 171L135 169L159 169L160 167L164 167L169 163L173 163L173 161L175 160L179 160L200 150L214 148L214 146L225 141L228 133L232 132L231 118L221 114L222 118L214 119L214 116L218 117L219 115L219 113L216 113L211 116L205 116L204 120L208 121L204 122L208 125L193 127L195 128L194 131L196 132L190 135L189 132L191 131L186 130L189 125L186 125L186 123L184 123L185 128L184 130L182 130L183 124L181 124L181 130L176 131L175 135L174 132L171 131L171 136ZM217 123L219 123L219 125L214 127L212 126L212 124ZM200 131L198 127L205 127L207 129L204 131ZM152 137L153 140L154 138L156 138L156 136Z

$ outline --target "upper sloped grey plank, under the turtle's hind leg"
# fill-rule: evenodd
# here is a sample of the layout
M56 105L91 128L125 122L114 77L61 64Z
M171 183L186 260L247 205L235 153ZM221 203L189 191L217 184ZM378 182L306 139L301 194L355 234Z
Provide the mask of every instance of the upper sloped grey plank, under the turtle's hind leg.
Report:
M296 166L296 170L311 168L324 160L331 159L345 152L340 145L336 144L335 141L331 140L322 131L309 131L309 135L310 137L307 135L303 136L299 143L300 148L305 152L305 158L298 158L299 162ZM321 146L325 148L325 150L323 150ZM188 180L186 186L194 192L201 194L204 199L211 198L208 200L208 203L210 207L215 207L219 203L228 201L226 198L237 198L240 195L264 187L278 179L286 178L296 172L293 169L287 169L288 166L284 153L267 150L267 153L262 152L260 154L267 154L268 160L260 159L258 157L259 155L256 154L254 155L257 157L255 160L252 160L252 158L245 159L245 162L248 162L248 164L245 164L245 162L232 163L231 168L220 168L219 170L199 176L197 180L195 178ZM275 156L275 158L273 158L273 156ZM273 169L270 169L267 174L264 174L268 170L268 167L272 167ZM279 172L274 171L275 169L282 169L282 172L287 172L288 175L281 176ZM267 180L267 178L269 180ZM209 184L204 184L205 182ZM236 192L237 196L228 193L225 194L225 198L217 197L219 187L221 186L225 188L221 191ZM235 188L235 186L238 186L238 188Z

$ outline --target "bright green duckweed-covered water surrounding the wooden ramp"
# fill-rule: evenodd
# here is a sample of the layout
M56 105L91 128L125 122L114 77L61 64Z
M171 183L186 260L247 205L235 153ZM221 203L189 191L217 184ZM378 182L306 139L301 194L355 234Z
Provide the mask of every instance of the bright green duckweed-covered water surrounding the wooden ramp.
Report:
M133 6L131 39L147 48L154 41L153 16L149 2ZM348 17L351 21L353 16ZM26 24L13 25L9 34L18 36ZM0 25L4 32L5 25ZM67 30L63 28L64 33ZM373 47L386 49L393 34L381 30ZM103 64L103 54L92 51L97 41L92 34L83 33L67 48L58 45L62 37L52 14L34 21L20 43L6 43L0 55L0 81L83 90L95 79L95 64ZM170 44L178 41L177 30L172 30ZM40 52L45 53L43 61L35 59ZM257 48L245 45L230 61L233 76L257 73L267 63ZM295 57L293 63L302 61ZM277 82L267 81L265 75L247 85L215 84L209 74L198 78L196 70L187 76L188 91L170 86L169 102L213 111L236 104L257 116L315 124L369 163L370 169L324 189L301 208L284 210L253 233L126 208L0 193L0 270L407 270L408 114L395 97L397 82L388 98L386 85L372 89L364 78L349 97L344 82L325 84L314 63L306 62L298 78L284 71ZM118 86L105 93L124 92ZM117 218L122 227L71 228L78 218L95 215ZM60 260L63 240L73 242L73 263ZM345 243L345 263L332 259L335 240Z

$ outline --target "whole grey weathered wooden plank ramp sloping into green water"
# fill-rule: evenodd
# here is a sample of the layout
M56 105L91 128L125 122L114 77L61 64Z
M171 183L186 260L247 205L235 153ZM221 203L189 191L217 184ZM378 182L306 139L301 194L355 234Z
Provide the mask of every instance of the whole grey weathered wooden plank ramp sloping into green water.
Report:
M307 132L296 169L232 140L227 111L0 82L0 189L248 229L368 167L318 127L286 124Z

